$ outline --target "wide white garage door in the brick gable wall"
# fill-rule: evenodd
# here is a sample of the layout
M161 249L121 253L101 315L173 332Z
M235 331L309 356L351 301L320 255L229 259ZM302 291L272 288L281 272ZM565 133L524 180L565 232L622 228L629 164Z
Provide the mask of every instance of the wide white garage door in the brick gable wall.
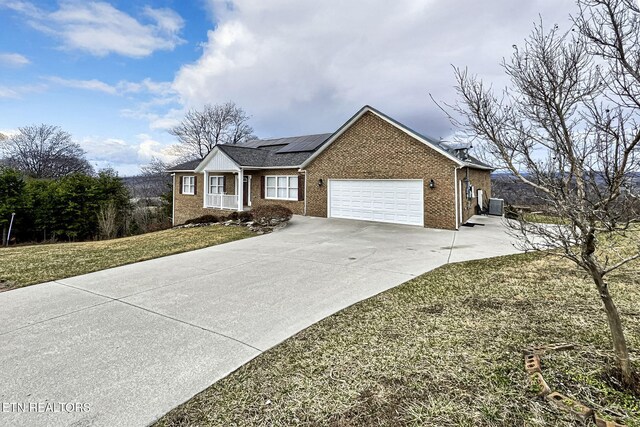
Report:
M422 180L329 180L329 217L424 225Z

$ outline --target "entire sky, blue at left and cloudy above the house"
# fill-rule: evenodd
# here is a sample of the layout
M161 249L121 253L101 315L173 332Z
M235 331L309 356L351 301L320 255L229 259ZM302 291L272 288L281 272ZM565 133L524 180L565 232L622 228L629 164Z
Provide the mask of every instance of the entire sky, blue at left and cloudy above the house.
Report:
M173 159L168 129L233 101L260 138L333 132L363 105L455 133L452 65L494 87L573 0L0 0L0 133L69 132L97 168Z

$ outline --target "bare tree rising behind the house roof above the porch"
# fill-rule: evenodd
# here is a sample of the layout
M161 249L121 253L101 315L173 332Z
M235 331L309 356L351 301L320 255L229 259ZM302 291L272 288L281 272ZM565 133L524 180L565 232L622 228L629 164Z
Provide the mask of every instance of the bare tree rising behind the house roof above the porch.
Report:
M249 116L233 102L189 110L169 132L178 138L183 159L203 159L218 144L238 144L252 138Z

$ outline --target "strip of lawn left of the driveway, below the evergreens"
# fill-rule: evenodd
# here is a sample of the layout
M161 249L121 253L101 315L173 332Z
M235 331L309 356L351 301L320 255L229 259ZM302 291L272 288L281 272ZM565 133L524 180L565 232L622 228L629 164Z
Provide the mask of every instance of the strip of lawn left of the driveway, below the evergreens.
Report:
M176 228L98 242L0 248L0 291L254 236L246 227Z

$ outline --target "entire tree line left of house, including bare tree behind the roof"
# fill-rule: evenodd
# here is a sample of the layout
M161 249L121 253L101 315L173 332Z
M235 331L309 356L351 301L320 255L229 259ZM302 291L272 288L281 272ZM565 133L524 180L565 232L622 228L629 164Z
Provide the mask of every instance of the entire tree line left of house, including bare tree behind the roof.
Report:
M189 110L169 133L175 163L204 158L217 144L255 138L249 116L233 102ZM25 126L0 134L0 229L7 243L79 241L153 231L170 225L172 197L159 159L142 167L131 188L113 170L96 172L85 151L58 126ZM162 194L160 200L157 195ZM153 197L151 197L153 196Z

